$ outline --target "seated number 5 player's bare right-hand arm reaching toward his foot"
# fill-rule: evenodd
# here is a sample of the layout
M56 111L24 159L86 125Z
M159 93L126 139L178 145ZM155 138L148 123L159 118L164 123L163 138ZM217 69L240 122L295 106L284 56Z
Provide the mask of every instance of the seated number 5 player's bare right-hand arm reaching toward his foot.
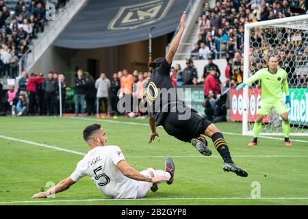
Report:
M146 181L149 183L162 183L169 180L167 177L151 177L151 178L146 177L137 170L135 170L134 168L132 168L131 166L129 166L129 164L127 164L127 162L124 159L118 162L118 164L116 164L116 167L118 168L118 170L120 170L120 172L122 172L123 175L125 175L125 177L129 177L130 179L134 179L137 181Z

